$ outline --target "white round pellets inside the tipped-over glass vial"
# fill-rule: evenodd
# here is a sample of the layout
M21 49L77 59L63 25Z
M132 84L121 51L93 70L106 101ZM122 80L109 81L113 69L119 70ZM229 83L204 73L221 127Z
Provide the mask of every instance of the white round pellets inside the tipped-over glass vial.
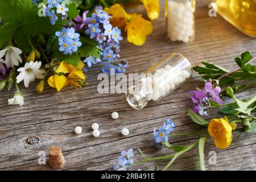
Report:
M161 97L167 96L191 77L191 72L166 65L164 68L156 69L152 76L141 78L141 87L148 98L158 101Z

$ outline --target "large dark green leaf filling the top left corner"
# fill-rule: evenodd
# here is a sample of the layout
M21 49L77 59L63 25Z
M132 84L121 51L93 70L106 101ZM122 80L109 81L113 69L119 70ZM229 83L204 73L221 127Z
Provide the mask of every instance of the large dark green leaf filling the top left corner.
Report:
M0 47L14 39L15 44L24 53L28 53L32 49L28 38L32 42L32 39L40 34L54 35L68 21L59 18L53 26L48 17L39 17L38 11L39 8L30 0L0 1L0 17L4 22L4 25L0 26ZM75 15L73 11L75 10L71 7L69 14Z

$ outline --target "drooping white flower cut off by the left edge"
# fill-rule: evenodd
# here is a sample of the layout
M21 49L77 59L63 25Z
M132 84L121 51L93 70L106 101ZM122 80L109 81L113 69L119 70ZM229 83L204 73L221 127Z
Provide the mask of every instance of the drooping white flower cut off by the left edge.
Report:
M6 64L6 67L13 68L14 65L18 66L19 63L22 63L22 59L19 56L22 53L22 50L16 47L6 47L0 51L0 59L5 56L5 60L0 60L2 63Z

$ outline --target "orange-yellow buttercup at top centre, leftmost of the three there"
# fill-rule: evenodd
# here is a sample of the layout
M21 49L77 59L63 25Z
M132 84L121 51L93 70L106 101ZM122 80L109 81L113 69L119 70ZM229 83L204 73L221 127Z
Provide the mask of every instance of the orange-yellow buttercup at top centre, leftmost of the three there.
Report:
M127 22L127 14L125 9L119 4L114 4L113 6L106 8L105 11L112 16L110 22L113 27L122 28Z

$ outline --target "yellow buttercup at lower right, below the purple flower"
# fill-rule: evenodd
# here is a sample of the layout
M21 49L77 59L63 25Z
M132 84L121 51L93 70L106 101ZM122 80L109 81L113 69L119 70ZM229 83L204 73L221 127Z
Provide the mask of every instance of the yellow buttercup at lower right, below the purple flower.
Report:
M229 123L228 118L210 120L208 132L214 138L217 148L227 148L232 142L232 130L236 129L235 123Z

